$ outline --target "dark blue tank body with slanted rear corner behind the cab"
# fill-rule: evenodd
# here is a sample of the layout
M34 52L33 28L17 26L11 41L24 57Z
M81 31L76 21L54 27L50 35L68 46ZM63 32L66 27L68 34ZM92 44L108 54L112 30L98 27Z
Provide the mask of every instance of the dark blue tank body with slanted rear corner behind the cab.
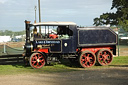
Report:
M117 44L117 34L110 28L78 28L78 47Z

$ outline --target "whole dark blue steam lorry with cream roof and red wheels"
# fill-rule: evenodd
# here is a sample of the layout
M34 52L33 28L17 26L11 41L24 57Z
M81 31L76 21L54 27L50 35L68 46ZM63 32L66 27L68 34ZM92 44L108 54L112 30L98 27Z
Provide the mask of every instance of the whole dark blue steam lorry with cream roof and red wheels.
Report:
M25 23L24 58L33 68L62 57L79 62L81 67L91 67L96 62L108 65L116 55L117 35L110 28L78 28L73 22ZM34 36L33 28L41 28L40 36Z

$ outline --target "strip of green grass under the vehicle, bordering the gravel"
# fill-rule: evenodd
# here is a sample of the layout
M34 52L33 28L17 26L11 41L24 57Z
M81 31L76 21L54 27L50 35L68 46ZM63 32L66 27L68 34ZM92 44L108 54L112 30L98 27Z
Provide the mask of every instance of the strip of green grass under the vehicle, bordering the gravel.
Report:
M122 66L128 67L128 56L114 57L113 62L109 66L93 66L91 68L80 68L77 66L71 66L69 62L65 64L55 64L52 66L44 66L41 69L32 69L30 66L24 67L24 65L0 65L0 75L16 75L16 74L31 74L31 73L59 73L59 72L71 72L79 70L89 69L102 69Z

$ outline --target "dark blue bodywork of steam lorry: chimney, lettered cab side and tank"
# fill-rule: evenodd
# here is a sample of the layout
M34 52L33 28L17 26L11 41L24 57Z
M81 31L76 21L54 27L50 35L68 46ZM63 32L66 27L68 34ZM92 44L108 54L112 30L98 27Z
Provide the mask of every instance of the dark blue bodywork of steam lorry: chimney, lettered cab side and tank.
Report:
M32 52L39 45L42 48L48 48L49 53L76 53L77 48L96 47L96 46L114 46L117 44L117 35L110 28L77 28L76 25L69 25L73 35L69 39L45 39L35 38L30 41L30 27L32 24L26 24L26 50ZM33 47L31 47L31 44ZM29 52L26 51L26 54ZM29 54L28 54L29 55Z

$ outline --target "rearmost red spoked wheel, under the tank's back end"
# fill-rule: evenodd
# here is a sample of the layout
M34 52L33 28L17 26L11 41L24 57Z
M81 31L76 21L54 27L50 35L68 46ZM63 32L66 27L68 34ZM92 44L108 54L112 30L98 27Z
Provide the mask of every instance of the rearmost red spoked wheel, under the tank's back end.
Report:
M101 49L97 54L97 61L100 65L108 65L112 62L113 55L108 49Z

